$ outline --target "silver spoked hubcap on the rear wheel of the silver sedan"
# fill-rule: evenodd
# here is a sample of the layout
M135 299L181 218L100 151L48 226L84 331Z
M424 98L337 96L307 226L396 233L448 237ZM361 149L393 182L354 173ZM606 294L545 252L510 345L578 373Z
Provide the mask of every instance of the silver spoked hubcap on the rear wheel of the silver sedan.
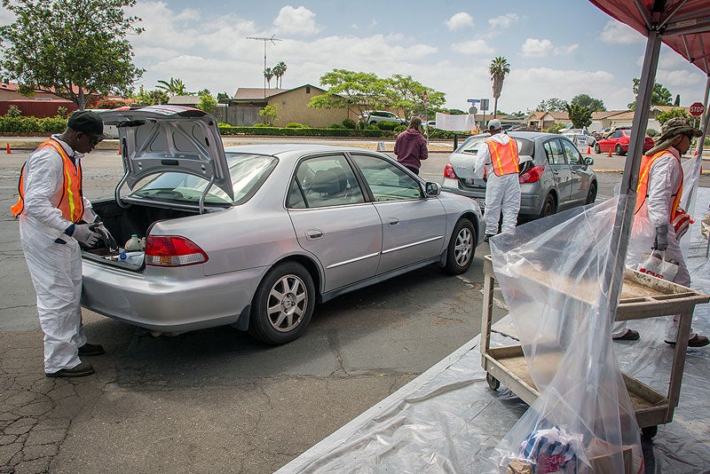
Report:
M284 275L269 292L266 315L272 328L288 332L296 328L304 318L308 306L308 294L304 280L296 275Z

